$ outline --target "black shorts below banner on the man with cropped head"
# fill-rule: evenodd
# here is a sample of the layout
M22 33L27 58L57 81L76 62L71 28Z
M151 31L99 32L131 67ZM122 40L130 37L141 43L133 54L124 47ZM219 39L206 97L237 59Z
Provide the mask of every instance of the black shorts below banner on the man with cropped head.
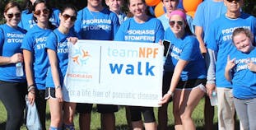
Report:
M77 112L80 114L91 114L92 104L77 103ZM97 104L97 112L100 114L112 114L119 110L118 105Z

